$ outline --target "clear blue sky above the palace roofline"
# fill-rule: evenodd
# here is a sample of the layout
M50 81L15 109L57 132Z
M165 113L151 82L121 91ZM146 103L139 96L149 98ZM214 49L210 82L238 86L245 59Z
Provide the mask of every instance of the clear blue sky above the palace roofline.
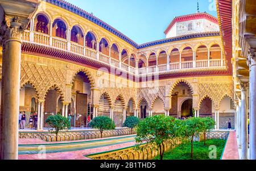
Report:
M164 39L175 16L197 11L197 0L65 0L79 6L138 44ZM217 16L214 0L199 0L199 11Z

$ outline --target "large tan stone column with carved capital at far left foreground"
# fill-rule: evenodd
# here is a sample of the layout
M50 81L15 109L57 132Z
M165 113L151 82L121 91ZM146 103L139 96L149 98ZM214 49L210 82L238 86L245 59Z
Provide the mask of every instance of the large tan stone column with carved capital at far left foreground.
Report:
M8 8L5 10L8 10ZM5 18L6 24L2 24L1 26L2 34L0 42L5 51L5 55L3 55L3 58L5 58L3 59L5 61L3 62L5 71L3 72L4 94L2 99L2 159L11 160L18 159L21 37L29 19L19 19L18 16L14 18L13 16L8 17L7 13L5 14Z

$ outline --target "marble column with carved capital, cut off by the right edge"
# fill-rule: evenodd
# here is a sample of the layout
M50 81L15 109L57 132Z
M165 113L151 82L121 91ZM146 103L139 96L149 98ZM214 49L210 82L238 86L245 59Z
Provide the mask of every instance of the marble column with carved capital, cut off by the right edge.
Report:
M250 66L250 160L256 160L256 58L255 51L250 51L247 56L247 64Z

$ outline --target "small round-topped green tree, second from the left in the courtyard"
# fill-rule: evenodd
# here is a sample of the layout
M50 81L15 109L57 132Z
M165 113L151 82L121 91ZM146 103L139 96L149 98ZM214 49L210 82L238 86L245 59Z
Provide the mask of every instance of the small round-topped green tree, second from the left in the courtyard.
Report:
M115 123L108 116L98 116L90 121L89 127L99 129L102 137L102 133L104 130L115 129Z

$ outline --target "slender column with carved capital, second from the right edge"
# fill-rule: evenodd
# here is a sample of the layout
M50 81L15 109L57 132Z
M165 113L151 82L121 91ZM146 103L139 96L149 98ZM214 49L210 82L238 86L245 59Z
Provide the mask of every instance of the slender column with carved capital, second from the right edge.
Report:
M247 82L241 83L241 159L247 160L247 150L248 150L248 106L247 106L247 94L248 94L248 86ZM254 85L255 86L255 85Z

